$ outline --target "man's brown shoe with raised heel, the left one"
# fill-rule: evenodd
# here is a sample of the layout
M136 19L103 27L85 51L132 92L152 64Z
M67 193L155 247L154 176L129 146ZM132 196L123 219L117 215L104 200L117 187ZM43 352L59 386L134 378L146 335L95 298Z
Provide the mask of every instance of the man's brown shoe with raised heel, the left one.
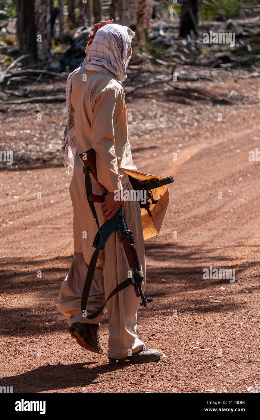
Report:
M99 337L99 324L77 322L71 324L67 331L77 340L77 344L84 349L93 353L103 353L104 348Z

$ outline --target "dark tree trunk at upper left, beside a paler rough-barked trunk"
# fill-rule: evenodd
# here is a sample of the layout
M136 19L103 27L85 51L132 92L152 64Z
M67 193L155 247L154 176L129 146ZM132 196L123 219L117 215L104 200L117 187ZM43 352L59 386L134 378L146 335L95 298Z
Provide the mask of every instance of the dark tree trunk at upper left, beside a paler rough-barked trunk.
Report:
M20 54L28 54L23 64L37 63L36 29L34 23L33 0L17 0L17 36L20 42Z

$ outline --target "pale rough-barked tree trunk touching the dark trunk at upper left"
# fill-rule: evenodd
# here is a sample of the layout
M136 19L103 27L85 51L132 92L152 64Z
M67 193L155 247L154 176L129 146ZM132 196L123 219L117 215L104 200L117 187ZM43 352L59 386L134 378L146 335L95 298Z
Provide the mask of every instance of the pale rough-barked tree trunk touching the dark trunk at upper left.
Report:
M50 30L51 0L34 0L34 21L36 28L37 61L47 61L51 58Z

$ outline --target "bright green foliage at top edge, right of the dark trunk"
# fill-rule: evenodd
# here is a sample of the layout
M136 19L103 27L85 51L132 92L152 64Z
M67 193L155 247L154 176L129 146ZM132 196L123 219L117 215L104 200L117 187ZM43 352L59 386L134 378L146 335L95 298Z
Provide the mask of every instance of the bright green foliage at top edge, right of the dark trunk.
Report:
M244 0L203 0L203 11L201 17L206 20L211 19L214 14L222 12L227 19L237 15L239 10L245 5Z

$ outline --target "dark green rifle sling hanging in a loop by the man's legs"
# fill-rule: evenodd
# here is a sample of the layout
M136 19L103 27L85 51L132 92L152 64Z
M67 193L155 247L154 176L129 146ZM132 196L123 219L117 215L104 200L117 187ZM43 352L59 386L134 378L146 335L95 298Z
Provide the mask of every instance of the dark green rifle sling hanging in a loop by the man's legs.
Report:
M85 167L84 167L84 169L85 169ZM90 172L87 172L85 170L84 173L85 173L86 194L87 194L87 199L88 199L90 194L93 193L92 183L91 183L91 178L90 178ZM97 261L98 261L98 254L99 254L100 249L103 249L104 246L105 246L104 241L102 243L102 236L101 236L100 226L99 226L99 223L98 223L98 216L97 216L97 213L96 213L96 210L95 210L94 202L91 202L88 199L88 204L90 205L90 210L92 211L95 222L98 226L98 233L96 235L96 238L98 239L98 243L95 244L96 249L93 252L93 255L91 257L89 267L88 267L88 273L87 273L87 276L86 276L86 279L85 279L85 284L84 284L83 291L82 291L81 305L80 305L81 306L81 312L86 310L86 306L87 306L87 303L88 303L88 295L89 295L89 292L90 292L91 283L92 283L92 280L93 280L95 268L96 268ZM111 219L111 220L113 220L113 219ZM108 223L108 222L106 222L106 223ZM101 226L101 228L102 228L102 226ZM113 229L113 231L115 231L115 230L117 230L117 229ZM106 237L106 239L108 239L108 236ZM123 281L122 283L118 284L118 286L116 286L115 289L113 291L111 291L111 294L106 299L106 302L108 301L108 299L110 299L112 296L114 296L119 291L125 289L130 284L131 284L131 279L130 278ZM93 313L91 315L87 315L87 318L88 319L96 318L103 311L103 309L106 305L106 302L95 313Z

